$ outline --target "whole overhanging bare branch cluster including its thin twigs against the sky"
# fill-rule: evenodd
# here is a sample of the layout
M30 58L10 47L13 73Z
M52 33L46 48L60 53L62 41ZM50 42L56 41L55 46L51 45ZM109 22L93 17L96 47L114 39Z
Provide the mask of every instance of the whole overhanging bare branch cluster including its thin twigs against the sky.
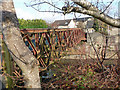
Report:
M40 4L49 4L51 5L52 7L60 10L60 11L40 11L38 9L35 9L39 12L53 12L53 13L63 13L61 11L64 11L63 14L67 14L67 13L71 13L71 12L77 12L77 13L82 13L82 14L87 14L87 15L90 15L90 16L93 16L111 26L114 26L114 27L118 27L120 28L120 20L119 19L113 19L112 17L104 14L104 12L110 7L110 5L112 4L112 2L114 0L112 0L110 2L110 4L104 9L104 11L100 11L97 7L95 7L94 5L92 5L90 2L86 1L86 0L71 0L73 1L73 5L70 5L69 3L66 3L67 5L66 6L63 6L62 9L60 9L59 7L57 7L56 5L54 5L53 3L50 3L50 2L46 2L46 1L43 1L43 2L40 2L40 3L37 3L37 4L33 4L33 5L29 5L29 7L32 7L34 8L33 6L35 5L40 5ZM99 1L99 0L98 0ZM78 6L75 6L78 5ZM82 8L80 8L80 6Z

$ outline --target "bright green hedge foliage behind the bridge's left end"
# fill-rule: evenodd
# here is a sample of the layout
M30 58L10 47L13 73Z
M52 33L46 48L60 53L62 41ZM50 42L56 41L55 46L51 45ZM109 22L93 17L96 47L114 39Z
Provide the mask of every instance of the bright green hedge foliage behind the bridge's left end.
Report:
M24 20L24 19L18 19L19 21L19 28L25 29L25 28L47 28L48 25L44 20L41 19L33 19L33 20Z

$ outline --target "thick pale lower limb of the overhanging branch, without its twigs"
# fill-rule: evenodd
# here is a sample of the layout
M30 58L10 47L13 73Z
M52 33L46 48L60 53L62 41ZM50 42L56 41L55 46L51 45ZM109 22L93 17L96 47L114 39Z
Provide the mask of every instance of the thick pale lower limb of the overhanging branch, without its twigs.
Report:
M111 26L120 28L120 20L119 19L113 19L112 17L110 17L108 15L101 14L101 11L98 11L98 12L91 11L91 10L86 10L84 8L79 8L79 7L71 7L65 11L65 13L71 13L71 12L87 14L87 15L93 16Z

